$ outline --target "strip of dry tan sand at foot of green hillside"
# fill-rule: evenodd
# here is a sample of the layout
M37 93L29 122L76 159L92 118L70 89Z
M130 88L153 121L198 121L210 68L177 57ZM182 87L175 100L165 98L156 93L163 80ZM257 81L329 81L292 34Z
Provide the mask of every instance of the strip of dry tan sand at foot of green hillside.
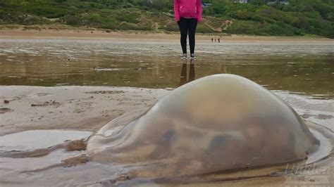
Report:
M79 29L0 29L0 39L101 39L101 40L136 40L136 41L178 41L180 34L144 31L106 31L106 30L79 30ZM221 42L302 42L302 43L334 43L334 39L323 37L266 37L249 35L202 34L197 33L198 41L211 42L211 38L220 38Z

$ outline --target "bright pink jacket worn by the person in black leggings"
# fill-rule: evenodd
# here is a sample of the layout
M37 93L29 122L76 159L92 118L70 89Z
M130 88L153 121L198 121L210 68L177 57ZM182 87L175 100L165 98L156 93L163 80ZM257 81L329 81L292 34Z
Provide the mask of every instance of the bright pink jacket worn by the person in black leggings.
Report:
M201 0L174 0L175 20L180 17L197 18L197 22L202 21L202 1Z

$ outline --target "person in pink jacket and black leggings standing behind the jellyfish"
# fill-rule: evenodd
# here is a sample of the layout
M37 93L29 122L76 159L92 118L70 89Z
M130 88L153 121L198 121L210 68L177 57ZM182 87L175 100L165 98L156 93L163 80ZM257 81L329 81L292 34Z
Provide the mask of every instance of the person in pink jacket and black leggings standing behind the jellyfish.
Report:
M174 0L174 14L181 32L182 58L187 58L187 34L189 34L190 58L196 58L194 54L195 32L197 22L202 21L202 1Z

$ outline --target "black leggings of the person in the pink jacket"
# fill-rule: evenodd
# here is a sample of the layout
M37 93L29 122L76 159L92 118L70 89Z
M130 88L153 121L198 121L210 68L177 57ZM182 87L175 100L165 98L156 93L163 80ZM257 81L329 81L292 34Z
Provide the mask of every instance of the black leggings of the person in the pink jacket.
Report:
M178 27L181 32L181 47L183 53L187 53L187 34L189 34L190 54L194 53L194 34L197 27L197 18L180 18Z

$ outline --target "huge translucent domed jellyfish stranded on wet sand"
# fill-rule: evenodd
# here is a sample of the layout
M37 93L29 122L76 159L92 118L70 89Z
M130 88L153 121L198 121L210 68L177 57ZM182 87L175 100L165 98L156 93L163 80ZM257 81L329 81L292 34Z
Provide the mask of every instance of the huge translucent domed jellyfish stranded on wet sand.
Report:
M112 120L87 152L101 163L148 166L141 176L209 174L304 160L319 141L287 103L249 79L211 75L149 110Z

